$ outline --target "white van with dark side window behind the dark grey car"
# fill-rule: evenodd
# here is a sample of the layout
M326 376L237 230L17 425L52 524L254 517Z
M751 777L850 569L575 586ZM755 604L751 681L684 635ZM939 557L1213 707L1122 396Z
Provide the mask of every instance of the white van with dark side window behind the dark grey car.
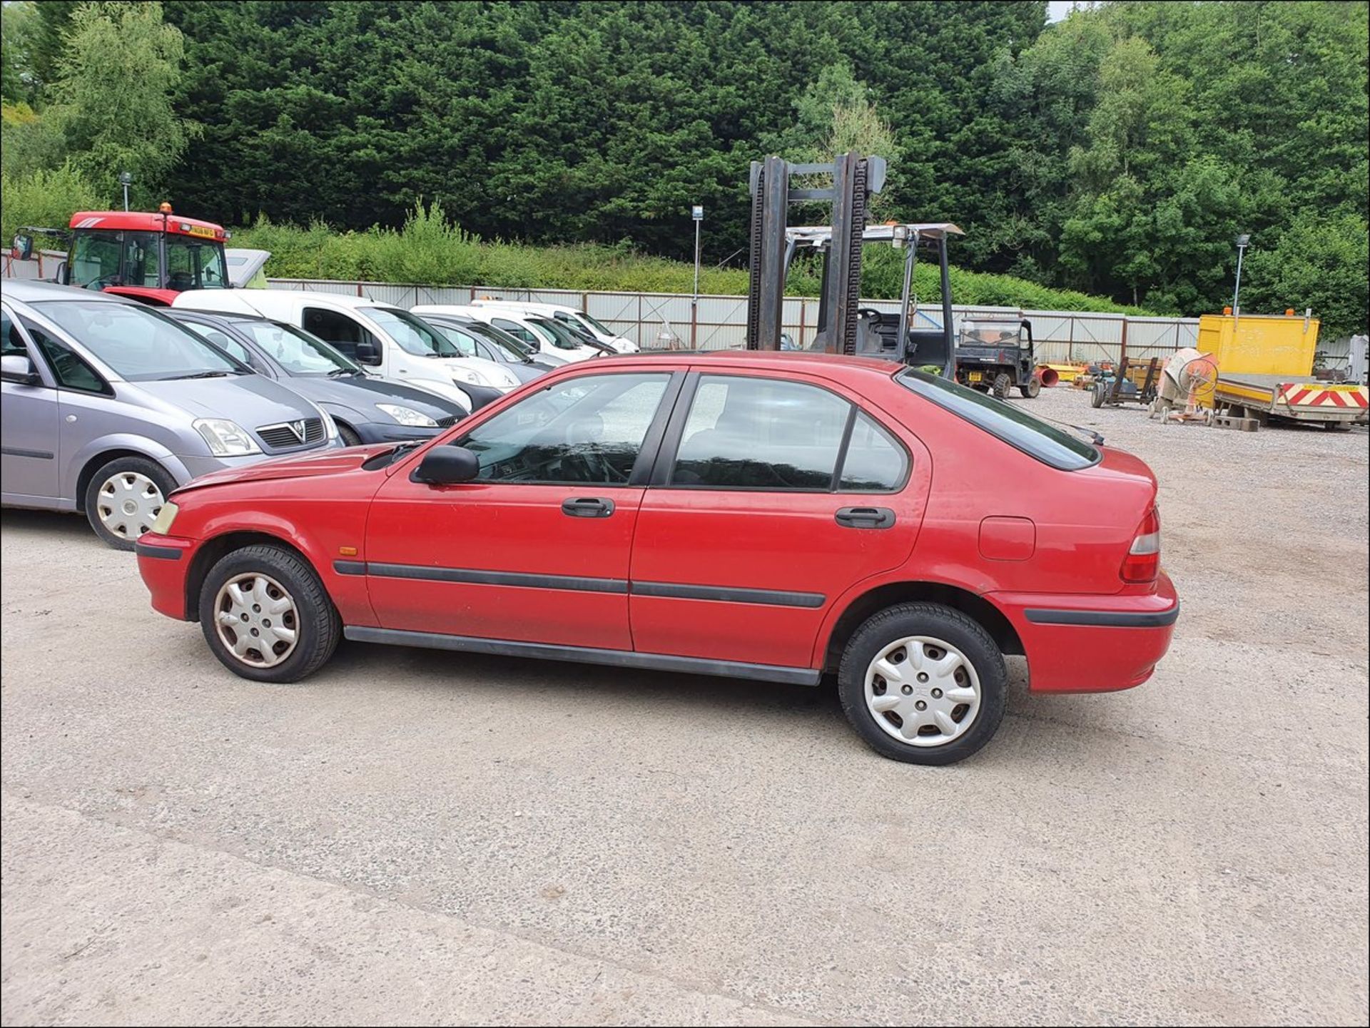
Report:
M519 385L507 370L484 357L469 357L448 339L393 304L358 296L286 289L193 289L171 304L192 311L258 313L295 324L352 357L371 374L475 404L462 386L507 393Z

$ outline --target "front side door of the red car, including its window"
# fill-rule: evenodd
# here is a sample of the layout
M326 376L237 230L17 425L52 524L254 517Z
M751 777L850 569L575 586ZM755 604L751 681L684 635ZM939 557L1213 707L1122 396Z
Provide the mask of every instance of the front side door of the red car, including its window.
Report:
M371 504L358 561L381 627L632 649L629 556L648 435L660 435L680 378L559 379L444 444L478 456L475 480L415 482L416 459L397 470Z

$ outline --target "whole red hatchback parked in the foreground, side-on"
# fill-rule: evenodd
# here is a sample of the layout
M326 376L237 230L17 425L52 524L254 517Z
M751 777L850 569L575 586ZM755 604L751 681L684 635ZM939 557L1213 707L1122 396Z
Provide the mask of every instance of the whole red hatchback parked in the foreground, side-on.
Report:
M1145 682L1180 613L1136 457L886 361L569 365L422 444L196 479L137 545L236 673L340 638L818 684L949 764L1040 693ZM1080 654L1088 653L1082 660Z

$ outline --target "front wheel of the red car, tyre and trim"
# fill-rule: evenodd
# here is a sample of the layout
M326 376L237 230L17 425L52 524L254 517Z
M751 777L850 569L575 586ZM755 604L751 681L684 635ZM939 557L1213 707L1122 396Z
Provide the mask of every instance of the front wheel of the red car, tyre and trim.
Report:
M214 656L255 682L312 675L342 634L314 568L281 546L244 546L222 557L204 578L199 611Z

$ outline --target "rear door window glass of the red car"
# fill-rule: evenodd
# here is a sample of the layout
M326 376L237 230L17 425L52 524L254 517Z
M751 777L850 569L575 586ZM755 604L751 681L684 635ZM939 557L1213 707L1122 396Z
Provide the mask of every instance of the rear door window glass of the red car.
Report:
M844 446L845 444L845 446ZM766 491L889 491L908 456L869 415L801 382L701 375L669 485Z

